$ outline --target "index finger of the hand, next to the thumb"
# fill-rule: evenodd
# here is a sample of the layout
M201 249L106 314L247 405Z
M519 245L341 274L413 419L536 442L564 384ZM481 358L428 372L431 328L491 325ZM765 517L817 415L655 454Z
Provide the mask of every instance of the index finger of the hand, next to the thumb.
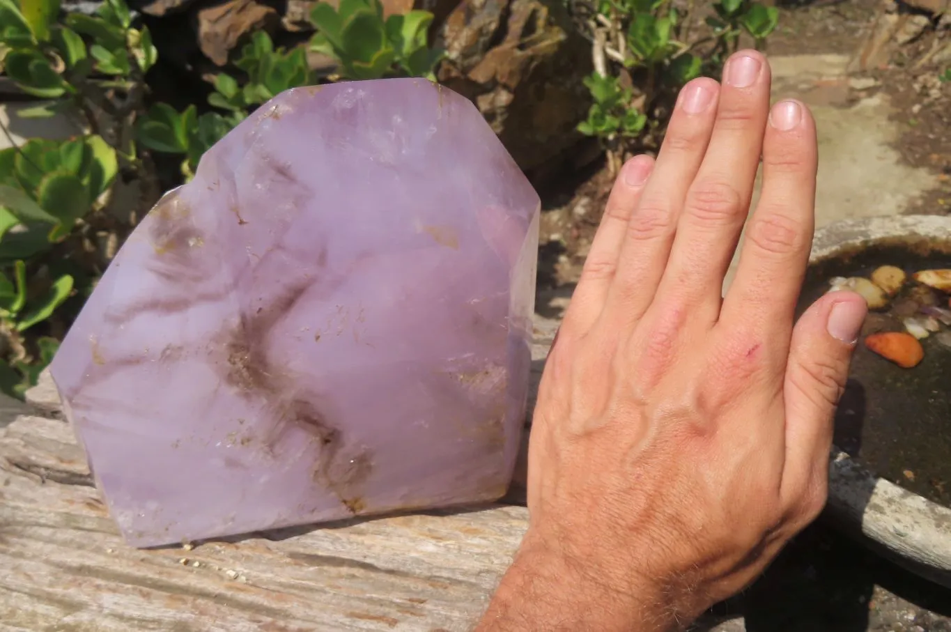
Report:
M798 101L777 103L763 144L763 193L749 220L718 326L788 351L815 228L816 126ZM786 365L785 355L782 358Z

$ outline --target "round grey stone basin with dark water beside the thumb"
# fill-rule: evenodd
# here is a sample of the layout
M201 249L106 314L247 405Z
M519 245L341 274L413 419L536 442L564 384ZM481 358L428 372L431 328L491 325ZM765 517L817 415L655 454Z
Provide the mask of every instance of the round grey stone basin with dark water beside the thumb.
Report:
M816 232L800 309L834 276L951 267L951 217L848 220ZM867 332L867 331L866 331ZM836 415L826 517L885 557L951 587L951 349L922 340L904 369L860 343Z

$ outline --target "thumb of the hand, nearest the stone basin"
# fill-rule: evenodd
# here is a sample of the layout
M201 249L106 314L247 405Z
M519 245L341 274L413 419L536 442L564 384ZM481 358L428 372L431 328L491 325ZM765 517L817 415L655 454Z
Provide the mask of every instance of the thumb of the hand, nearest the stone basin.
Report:
M821 484L825 502L832 420L867 312L861 295L830 292L805 311L792 331L784 385L783 480L784 486L799 488L794 493L801 493L802 485Z

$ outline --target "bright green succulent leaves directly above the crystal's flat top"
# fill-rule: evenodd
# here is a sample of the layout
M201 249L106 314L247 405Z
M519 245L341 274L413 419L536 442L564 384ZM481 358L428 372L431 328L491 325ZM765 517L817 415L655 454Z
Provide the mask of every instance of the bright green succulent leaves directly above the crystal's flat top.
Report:
M310 19L317 28L311 49L336 59L343 78L407 75L435 80L442 51L427 44L433 23L429 11L411 10L383 19L379 0L340 0L339 9L318 3Z

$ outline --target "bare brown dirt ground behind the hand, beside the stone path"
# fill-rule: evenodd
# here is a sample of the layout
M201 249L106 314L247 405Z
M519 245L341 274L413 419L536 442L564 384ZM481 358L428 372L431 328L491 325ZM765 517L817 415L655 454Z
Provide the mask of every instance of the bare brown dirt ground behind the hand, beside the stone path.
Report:
M852 54L871 29L879 0L817 0L786 2L780 26L767 44L768 55L821 53ZM945 32L944 37L948 37ZM891 118L902 127L894 147L905 164L938 173L941 186L914 200L903 212L951 213L951 82L937 79L938 68L912 69L931 47L933 33L926 30L899 49L886 68L855 73L886 95ZM545 212L541 222L539 303L543 309L564 306L611 188L603 165L595 165L562 188L543 191Z

